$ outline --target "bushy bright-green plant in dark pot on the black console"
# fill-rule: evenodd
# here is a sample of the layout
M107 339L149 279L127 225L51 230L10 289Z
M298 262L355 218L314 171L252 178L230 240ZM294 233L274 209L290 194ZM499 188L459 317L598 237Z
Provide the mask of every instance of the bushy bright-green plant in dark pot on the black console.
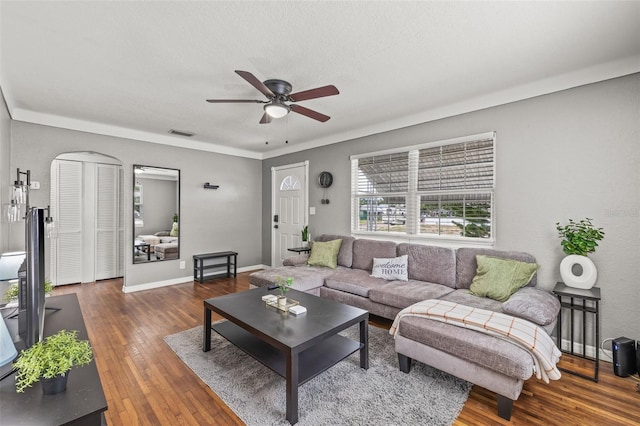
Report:
M93 359L89 341L79 340L77 333L61 330L20 352L13 364L16 391L24 392L40 380L45 395L64 391L71 368L87 365Z

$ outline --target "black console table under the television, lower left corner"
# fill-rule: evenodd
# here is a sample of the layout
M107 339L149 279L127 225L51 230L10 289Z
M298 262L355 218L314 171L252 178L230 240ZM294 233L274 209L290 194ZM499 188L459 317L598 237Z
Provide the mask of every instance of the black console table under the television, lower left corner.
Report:
M75 294L48 297L46 306L59 310L47 310L45 336L65 329L77 330L79 339L88 339ZM0 382L0 423L3 425L102 425L106 424L106 410L107 400L95 360L84 367L74 367L69 372L67 390L56 395L43 395L40 382L24 393L17 393L13 374Z

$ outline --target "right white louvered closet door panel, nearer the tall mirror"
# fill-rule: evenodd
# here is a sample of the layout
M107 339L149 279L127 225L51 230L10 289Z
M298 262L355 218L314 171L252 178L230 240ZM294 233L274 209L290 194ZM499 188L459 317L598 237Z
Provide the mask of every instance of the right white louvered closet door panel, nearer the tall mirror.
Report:
M95 279L118 276L119 269L119 167L96 164Z

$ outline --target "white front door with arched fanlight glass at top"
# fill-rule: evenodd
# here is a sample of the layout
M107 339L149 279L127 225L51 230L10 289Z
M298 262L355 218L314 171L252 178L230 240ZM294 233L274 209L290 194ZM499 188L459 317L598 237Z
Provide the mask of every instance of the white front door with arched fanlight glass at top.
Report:
M309 162L271 169L271 266L294 253L291 247L302 245L302 228L308 223Z

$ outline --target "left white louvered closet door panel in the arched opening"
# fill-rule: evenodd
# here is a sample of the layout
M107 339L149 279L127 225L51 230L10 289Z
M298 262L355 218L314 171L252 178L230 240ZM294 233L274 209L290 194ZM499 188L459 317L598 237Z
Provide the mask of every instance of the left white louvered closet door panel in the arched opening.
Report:
M52 274L56 285L82 279L82 168L77 161L54 161L51 201L58 238L53 240Z

